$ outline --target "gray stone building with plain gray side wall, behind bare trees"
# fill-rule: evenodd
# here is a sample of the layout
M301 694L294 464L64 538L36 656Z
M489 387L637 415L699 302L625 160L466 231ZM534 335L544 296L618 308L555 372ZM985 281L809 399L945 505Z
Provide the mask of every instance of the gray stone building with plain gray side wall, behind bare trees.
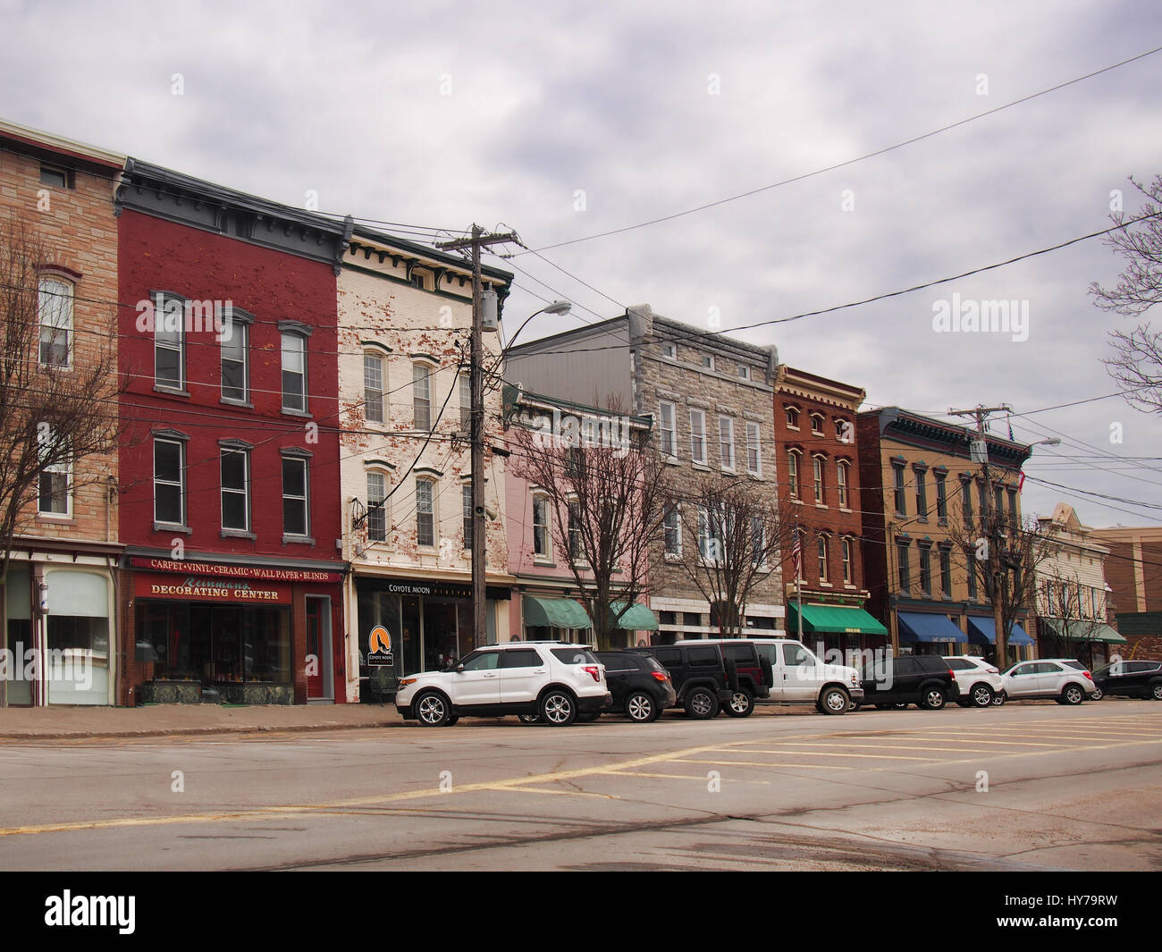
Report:
M510 349L504 377L528 389L654 418L655 445L676 481L722 473L754 480L777 501L774 446L775 348L760 348L654 314L648 305L576 330ZM683 559L697 559L681 507L651 559L655 639L717 634L711 606ZM693 524L697 524L696 522ZM691 551L695 550L695 551ZM784 628L777 564L751 592L746 624L765 635Z

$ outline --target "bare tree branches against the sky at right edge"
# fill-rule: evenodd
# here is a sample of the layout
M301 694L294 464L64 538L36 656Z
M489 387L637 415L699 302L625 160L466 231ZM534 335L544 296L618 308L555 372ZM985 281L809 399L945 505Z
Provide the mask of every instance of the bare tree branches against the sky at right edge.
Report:
M1090 285L1093 302L1103 310L1140 318L1162 300L1162 176L1149 185L1129 179L1142 196L1138 214L1121 210L1110 220L1122 226L1105 237L1126 262L1113 287ZM1126 401L1140 409L1162 413L1162 332L1143 321L1132 330L1112 330L1114 356L1104 360L1110 375L1127 391Z

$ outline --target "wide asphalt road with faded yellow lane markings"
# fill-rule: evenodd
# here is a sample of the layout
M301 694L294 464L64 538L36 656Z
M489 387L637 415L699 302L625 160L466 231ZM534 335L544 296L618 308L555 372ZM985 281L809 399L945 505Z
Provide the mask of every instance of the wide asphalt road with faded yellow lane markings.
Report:
M1162 704L0 744L2 869L1160 869Z

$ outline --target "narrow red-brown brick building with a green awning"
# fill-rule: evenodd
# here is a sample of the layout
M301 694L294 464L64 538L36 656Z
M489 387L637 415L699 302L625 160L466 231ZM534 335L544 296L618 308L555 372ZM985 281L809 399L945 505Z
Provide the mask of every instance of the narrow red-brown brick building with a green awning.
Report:
M775 378L779 491L796 513L801 568L783 554L787 634L816 647L882 647L887 629L865 609L855 414L865 391L780 365Z

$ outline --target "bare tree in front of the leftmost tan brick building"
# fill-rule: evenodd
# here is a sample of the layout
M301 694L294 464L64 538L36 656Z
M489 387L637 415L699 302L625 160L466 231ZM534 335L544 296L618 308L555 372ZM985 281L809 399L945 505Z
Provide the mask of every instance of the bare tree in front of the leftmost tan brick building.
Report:
M0 217L2 582L13 542L33 527L37 501L52 506L103 482L106 467L87 465L86 457L117 446L116 312L110 306L99 327L86 320L80 338L67 285L42 284L48 260L50 253L22 217Z

